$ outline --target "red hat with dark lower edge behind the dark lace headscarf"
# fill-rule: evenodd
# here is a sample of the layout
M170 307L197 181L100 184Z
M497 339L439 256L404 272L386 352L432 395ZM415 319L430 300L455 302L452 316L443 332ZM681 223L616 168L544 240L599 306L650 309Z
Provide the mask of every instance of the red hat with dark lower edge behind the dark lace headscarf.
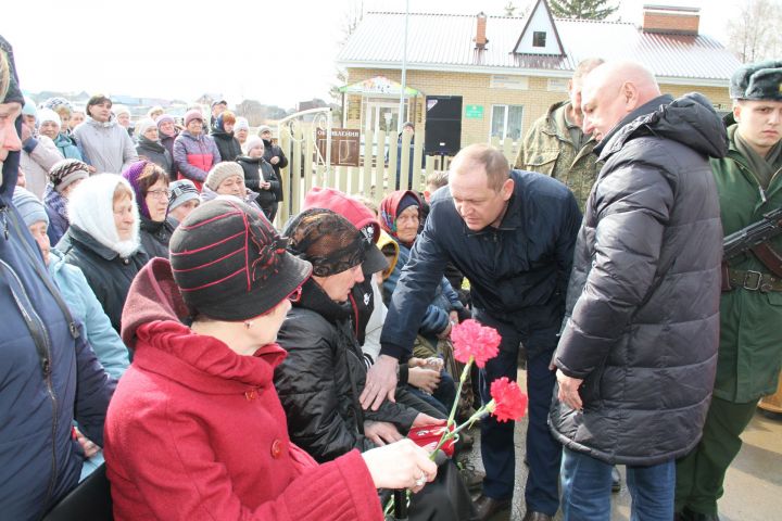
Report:
M327 208L345 217L361 231L366 241L366 258L364 269L368 274L375 274L388 268L386 255L376 246L380 238L380 224L375 220L375 215L360 201L335 190L332 188L315 187L304 198L302 209Z

